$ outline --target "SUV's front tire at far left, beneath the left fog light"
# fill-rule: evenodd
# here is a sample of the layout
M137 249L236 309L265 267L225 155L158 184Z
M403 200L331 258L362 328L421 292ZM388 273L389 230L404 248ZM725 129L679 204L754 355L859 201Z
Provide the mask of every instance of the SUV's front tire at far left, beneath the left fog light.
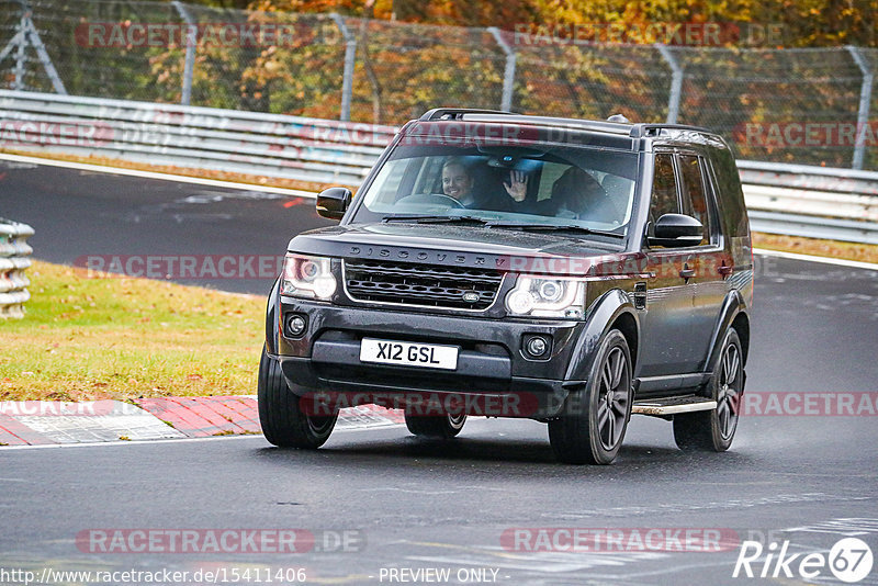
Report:
M329 439L338 415L319 417L303 413L301 398L290 391L280 363L269 358L264 348L257 393L259 424L269 442L279 448L316 450Z

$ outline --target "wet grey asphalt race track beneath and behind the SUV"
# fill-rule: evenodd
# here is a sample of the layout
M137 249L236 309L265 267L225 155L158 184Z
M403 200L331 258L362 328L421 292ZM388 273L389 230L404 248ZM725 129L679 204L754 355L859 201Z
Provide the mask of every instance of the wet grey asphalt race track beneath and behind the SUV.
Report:
M324 224L311 203L0 162L0 216L31 224L34 256L54 262L277 255L296 232ZM875 397L878 272L757 260L747 393ZM200 284L262 294L270 282ZM730 452L688 455L667 422L638 417L605 467L555 463L541 424L485 419L470 420L449 443L387 427L338 432L314 453L278 450L261 437L4 450L0 584L23 584L4 581L2 570L38 576L45 567L206 568L228 578L234 570L304 567L308 584L428 583L423 574L392 581L390 568L448 568L451 583L472 568L499 584L841 584L826 568L811 579L773 578L773 566L766 578L732 572L748 538L826 554L857 536L878 554L876 420L791 410L744 417ZM83 530L137 528L297 528L327 541L294 554L94 553L75 541ZM516 528L718 528L738 542L709 553L534 552L502 539ZM341 531L359 539L350 551L333 548ZM757 575L764 559L752 565ZM254 584L252 576L227 583ZM878 584L878 568L858 584Z

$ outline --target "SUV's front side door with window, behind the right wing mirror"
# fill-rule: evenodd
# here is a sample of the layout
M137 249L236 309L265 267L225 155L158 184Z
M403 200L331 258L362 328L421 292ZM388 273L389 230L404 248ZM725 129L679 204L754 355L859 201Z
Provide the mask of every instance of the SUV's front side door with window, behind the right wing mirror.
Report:
M673 151L654 156L648 236L664 214L683 213L680 180ZM641 314L640 379L643 394L672 391L683 384L683 373L697 368L693 357L693 284L695 255L687 248L645 245L646 307Z

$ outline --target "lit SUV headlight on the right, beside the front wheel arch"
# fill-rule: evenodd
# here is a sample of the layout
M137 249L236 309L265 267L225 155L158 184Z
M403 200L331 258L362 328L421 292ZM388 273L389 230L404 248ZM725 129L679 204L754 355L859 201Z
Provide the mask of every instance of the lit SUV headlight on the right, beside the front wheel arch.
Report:
M515 316L582 319L585 281L522 274L506 295L506 309Z

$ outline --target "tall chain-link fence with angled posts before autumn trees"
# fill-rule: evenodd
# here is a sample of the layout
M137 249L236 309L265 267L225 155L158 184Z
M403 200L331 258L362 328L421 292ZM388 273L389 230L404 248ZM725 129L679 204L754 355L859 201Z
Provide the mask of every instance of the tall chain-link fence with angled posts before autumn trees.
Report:
M621 113L708 126L744 159L878 170L876 48L547 43L336 14L0 0L0 52L5 89L382 124L439 105Z

